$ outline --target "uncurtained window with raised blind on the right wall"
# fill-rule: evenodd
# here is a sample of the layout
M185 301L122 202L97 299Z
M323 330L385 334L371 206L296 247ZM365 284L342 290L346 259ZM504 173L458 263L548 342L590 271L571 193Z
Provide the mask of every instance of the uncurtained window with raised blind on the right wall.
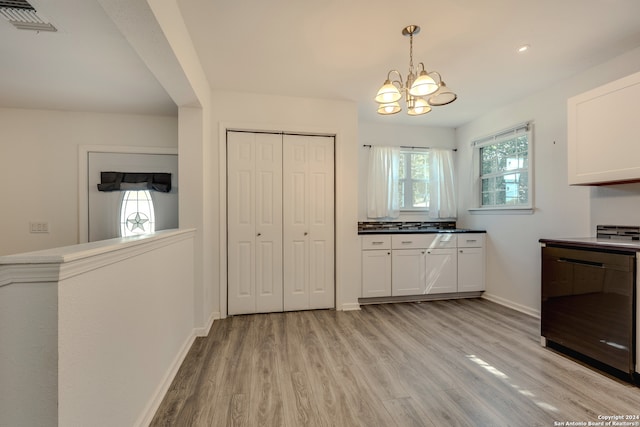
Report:
M481 208L530 208L529 124L474 142L479 157Z

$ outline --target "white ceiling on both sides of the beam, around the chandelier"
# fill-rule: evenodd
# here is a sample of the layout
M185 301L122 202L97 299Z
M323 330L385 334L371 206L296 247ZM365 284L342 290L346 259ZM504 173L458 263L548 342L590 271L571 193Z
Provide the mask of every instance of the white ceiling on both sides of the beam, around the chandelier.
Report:
M149 70L105 13L108 2L30 2L58 32L17 30L0 19L0 106L176 114L154 77L161 64ZM640 46L639 0L178 4L213 89L350 100L360 120L396 124L456 127ZM148 24L140 19L138 34ZM425 116L380 117L373 96L390 69L406 75L401 30L409 24L422 27L414 62L439 71L459 98ZM525 43L531 49L518 54Z

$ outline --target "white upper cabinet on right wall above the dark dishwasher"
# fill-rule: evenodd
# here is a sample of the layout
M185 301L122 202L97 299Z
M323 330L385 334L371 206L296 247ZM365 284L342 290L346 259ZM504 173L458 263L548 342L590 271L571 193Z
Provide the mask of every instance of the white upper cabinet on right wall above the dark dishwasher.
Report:
M640 181L640 72L568 100L569 184Z

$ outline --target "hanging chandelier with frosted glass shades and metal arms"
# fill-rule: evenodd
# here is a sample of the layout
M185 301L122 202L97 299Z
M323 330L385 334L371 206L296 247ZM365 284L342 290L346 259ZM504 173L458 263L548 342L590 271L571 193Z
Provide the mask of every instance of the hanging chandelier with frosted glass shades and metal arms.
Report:
M402 35L409 37L409 74L405 82L398 70L387 73L378 94L375 97L378 103L378 114L396 114L402 110L400 98L404 95L407 104L407 114L419 116L431 111L431 107L447 105L458 97L445 85L440 73L427 71L424 63L420 62L417 68L413 67L413 35L420 32L417 25L409 25L402 30ZM399 80L391 80L395 73Z

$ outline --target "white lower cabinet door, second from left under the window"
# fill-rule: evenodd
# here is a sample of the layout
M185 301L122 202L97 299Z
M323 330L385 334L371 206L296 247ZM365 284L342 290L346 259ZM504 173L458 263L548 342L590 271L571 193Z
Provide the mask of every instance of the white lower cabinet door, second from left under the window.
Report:
M391 295L420 295L426 283L426 251L396 249L392 251Z

